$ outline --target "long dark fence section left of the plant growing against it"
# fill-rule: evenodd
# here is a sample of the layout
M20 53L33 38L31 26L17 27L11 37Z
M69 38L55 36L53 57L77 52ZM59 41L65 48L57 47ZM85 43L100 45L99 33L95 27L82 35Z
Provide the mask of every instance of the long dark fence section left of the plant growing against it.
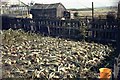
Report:
M79 20L28 19L3 17L3 29L23 29L44 35L77 38L80 37Z

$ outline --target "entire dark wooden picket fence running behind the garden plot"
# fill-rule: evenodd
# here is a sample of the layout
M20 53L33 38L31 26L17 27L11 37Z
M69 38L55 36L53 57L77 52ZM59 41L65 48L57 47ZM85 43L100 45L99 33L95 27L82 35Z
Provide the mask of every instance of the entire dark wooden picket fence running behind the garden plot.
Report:
M2 18L3 29L23 29L44 35L81 38L81 28L86 27L86 40L96 42L119 42L120 20L60 20L60 19L28 19Z

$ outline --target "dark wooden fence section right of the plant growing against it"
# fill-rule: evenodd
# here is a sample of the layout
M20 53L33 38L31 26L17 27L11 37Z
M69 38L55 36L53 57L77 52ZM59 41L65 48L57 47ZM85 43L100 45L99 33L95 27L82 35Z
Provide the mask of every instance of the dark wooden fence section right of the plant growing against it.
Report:
M88 40L114 43L119 41L120 20L95 20L87 26L86 33Z

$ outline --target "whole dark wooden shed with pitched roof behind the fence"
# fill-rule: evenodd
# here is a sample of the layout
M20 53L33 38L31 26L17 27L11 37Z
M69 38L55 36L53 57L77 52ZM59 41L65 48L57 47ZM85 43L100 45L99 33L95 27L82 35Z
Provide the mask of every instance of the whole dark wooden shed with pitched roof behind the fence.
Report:
M30 10L33 18L62 18L66 8L61 3L38 4L35 3Z

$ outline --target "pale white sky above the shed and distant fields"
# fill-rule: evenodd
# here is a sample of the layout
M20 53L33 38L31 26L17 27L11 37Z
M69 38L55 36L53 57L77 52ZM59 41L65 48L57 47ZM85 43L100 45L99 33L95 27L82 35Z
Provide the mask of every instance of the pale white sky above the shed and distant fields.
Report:
M2 0L17 2L18 0ZM94 2L94 7L106 7L117 5L120 0L20 0L28 4L31 1L34 3L50 4L61 2L66 8L91 8L92 2Z

